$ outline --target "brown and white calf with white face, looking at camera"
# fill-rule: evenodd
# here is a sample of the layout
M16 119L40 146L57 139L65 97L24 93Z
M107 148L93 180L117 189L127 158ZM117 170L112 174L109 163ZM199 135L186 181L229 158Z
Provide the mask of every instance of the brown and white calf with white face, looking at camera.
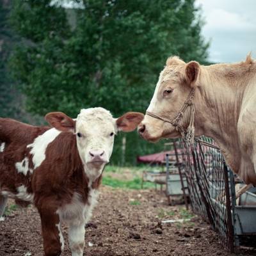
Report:
M68 225L73 256L83 255L84 225L97 201L102 170L117 131L133 131L143 114L113 118L103 108L82 109L76 120L49 113L52 127L0 118L0 217L7 198L35 204L45 256L60 255L61 223Z

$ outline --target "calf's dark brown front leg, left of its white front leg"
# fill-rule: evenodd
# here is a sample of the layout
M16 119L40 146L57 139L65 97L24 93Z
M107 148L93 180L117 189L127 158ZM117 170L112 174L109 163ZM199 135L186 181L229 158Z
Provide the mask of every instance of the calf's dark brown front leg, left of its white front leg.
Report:
M52 205L56 204L45 200L45 204L38 207L41 217L45 256L59 256L64 247L60 218L56 214L56 208L52 207Z

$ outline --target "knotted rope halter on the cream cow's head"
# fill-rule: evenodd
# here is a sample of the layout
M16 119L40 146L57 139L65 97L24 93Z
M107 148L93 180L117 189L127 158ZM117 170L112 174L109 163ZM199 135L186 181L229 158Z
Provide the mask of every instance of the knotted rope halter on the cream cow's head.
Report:
M146 115L152 116L154 118L157 118L159 120L162 120L164 122L168 122L169 124L172 124L177 131L180 132L182 138L189 143L193 143L194 136L195 136L195 127L194 127L194 120L195 120L195 104L193 103L193 97L195 95L195 88L193 88L189 95L188 99L184 102L182 108L180 109L177 116L173 119L168 119L163 116L157 115L156 113L152 113L150 111L146 112ZM180 120L184 116L184 113L188 107L191 107L191 115L190 115L190 122L188 125L188 128L185 130L184 127L180 124Z

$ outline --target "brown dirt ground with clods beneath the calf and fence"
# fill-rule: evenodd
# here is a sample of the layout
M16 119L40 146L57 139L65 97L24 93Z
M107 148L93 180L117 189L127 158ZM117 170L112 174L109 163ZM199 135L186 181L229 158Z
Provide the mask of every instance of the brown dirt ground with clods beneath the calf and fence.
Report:
M159 191L100 188L99 204L86 227L84 255L232 255L209 225L184 210L169 206ZM163 220L191 219L184 223ZM65 235L65 251L71 255ZM90 246L89 246L90 244ZM0 222L0 256L43 255L40 218L34 207L17 209ZM237 255L256 255L243 250Z

